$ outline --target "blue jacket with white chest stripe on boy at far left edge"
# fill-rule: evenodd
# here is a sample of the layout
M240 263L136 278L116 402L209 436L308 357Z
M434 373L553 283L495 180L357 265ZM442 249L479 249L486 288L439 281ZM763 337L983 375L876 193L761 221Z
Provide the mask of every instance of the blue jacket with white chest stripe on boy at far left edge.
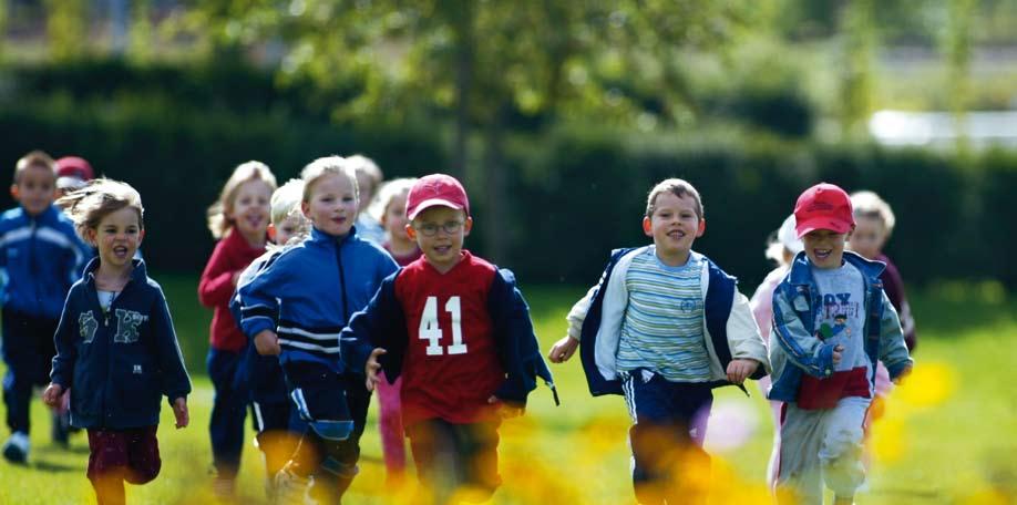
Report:
M0 269L3 309L34 317L60 318L68 290L81 278L92 249L74 233L74 224L50 205L29 216L23 207L0 216Z

